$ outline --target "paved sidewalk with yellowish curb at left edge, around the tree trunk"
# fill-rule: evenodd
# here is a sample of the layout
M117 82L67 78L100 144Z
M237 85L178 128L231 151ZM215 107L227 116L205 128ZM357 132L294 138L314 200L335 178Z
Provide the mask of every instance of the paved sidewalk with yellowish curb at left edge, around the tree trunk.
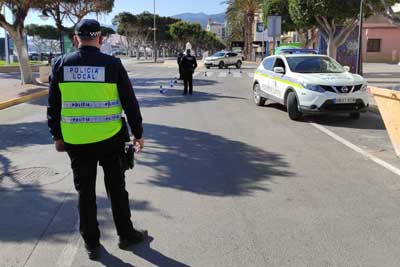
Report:
M37 74L34 74L36 79ZM0 110L45 96L45 85L21 85L19 73L0 73Z

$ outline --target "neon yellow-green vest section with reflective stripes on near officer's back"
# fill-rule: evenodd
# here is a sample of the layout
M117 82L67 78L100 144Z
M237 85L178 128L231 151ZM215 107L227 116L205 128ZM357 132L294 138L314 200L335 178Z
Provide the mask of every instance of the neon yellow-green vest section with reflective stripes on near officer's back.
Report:
M69 144L90 144L113 137L122 128L122 107L113 83L64 82L61 131Z

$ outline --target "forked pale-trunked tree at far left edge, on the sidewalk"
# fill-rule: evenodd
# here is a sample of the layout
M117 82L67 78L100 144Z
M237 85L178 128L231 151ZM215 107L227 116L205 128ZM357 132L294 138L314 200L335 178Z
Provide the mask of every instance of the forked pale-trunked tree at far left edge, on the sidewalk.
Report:
M21 82L23 84L33 83L32 70L29 65L27 44L25 41L25 18L31 8L35 8L40 3L39 0L1 0L0 9L7 7L11 10L14 20L8 22L3 14L0 14L0 27L5 29L14 42L17 50L19 66L21 71Z

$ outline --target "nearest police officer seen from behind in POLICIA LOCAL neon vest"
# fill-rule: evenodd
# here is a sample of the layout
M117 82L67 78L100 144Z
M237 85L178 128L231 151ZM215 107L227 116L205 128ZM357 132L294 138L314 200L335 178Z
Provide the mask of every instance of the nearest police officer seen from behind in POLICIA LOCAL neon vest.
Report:
M133 228L122 168L124 133L122 110L134 134L138 151L144 146L142 116L131 82L121 61L100 52L102 36L96 20L76 25L76 52L53 61L48 125L56 150L71 159L79 194L79 230L90 259L99 257L100 231L96 211L96 171L99 163L111 200L119 247L143 241L147 231Z

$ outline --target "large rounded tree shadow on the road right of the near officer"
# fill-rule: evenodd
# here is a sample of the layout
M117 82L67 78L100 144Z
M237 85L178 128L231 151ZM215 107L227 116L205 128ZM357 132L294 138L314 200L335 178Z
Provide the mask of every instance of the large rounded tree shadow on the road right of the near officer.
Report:
M245 196L265 181L291 177L283 155L207 132L146 124L151 149L139 164L157 170L149 183L196 194Z

